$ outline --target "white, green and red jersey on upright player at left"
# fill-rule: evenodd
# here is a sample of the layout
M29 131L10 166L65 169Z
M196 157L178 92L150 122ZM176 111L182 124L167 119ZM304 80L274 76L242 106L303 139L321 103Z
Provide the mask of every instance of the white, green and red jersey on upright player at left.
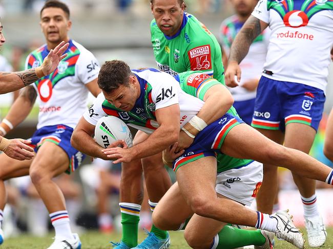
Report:
M26 69L37 67L49 54L47 45L29 54ZM38 94L37 129L64 124L74 128L88 104L86 84L98 77L95 56L74 40L69 40L68 56L60 61L50 75L40 78L33 86Z

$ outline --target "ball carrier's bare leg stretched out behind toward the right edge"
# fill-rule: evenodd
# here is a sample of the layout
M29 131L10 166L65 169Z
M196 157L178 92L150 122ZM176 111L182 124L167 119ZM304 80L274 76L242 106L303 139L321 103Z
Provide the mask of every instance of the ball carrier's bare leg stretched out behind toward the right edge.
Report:
M246 124L239 124L228 132L221 152L233 157L251 158L263 164L279 165L300 176L322 182L332 171L306 153L279 145Z

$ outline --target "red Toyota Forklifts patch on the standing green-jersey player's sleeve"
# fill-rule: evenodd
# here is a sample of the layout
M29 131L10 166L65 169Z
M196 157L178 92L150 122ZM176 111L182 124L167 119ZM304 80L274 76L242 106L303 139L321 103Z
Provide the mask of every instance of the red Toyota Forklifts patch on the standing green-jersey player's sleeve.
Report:
M188 52L191 70L208 70L212 69L211 46L204 45L191 49Z

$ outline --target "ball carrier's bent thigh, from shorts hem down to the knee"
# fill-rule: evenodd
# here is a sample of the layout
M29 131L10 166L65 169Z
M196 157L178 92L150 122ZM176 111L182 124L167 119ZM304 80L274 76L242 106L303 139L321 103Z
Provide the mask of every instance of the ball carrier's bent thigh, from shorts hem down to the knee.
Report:
M192 209L204 206L216 198L216 165L214 156L204 156L177 169L180 192Z

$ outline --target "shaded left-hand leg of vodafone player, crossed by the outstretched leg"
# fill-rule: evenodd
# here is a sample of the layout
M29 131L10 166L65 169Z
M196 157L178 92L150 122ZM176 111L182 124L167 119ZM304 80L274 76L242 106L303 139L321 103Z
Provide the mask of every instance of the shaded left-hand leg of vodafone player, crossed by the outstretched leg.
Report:
M283 144L284 134L280 130L257 129L266 138ZM272 214L274 199L278 193L278 167L277 165L263 165L264 178L257 194L257 210L266 214Z

